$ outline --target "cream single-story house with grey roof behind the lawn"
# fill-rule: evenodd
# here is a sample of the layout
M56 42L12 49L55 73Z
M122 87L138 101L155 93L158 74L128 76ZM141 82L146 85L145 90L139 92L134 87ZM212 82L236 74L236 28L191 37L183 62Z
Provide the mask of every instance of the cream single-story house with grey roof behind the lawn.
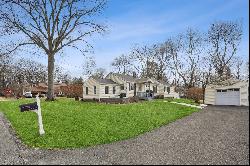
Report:
M84 99L178 97L174 87L152 78L136 78L126 74L109 73L104 79L90 77L83 84Z

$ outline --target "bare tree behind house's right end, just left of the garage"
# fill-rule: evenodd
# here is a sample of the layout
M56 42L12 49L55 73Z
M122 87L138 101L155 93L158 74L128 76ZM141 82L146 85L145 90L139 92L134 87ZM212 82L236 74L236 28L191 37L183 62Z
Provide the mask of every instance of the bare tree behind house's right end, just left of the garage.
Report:
M187 88L193 87L196 81L202 46L200 32L190 28L185 34L165 42L165 52L171 56L169 67L182 78Z

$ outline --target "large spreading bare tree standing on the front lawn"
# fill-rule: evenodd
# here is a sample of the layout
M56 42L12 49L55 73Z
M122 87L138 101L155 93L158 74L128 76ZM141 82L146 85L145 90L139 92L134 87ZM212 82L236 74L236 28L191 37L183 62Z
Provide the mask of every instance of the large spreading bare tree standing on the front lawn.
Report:
M20 33L26 40L16 44L17 49L33 45L48 56L47 100L54 99L53 73L55 55L65 47L77 48L87 43L86 37L103 32L95 16L100 14L105 0L5 0L0 2L0 19L5 32ZM13 50L10 50L10 52Z

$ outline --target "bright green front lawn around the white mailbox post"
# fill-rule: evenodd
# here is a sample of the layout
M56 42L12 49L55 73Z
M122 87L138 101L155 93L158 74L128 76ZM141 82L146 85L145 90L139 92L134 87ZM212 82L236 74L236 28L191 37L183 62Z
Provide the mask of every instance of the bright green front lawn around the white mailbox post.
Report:
M0 111L25 144L41 148L77 148L124 140L198 111L162 101L115 105L72 99L42 100L46 134L39 136L36 113L20 112L18 107L34 101L2 101Z

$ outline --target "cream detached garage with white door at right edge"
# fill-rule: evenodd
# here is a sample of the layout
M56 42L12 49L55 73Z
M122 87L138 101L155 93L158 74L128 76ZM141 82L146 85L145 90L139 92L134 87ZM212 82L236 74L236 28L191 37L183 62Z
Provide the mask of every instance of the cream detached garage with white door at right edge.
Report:
M207 85L205 104L249 106L249 82L228 79Z

